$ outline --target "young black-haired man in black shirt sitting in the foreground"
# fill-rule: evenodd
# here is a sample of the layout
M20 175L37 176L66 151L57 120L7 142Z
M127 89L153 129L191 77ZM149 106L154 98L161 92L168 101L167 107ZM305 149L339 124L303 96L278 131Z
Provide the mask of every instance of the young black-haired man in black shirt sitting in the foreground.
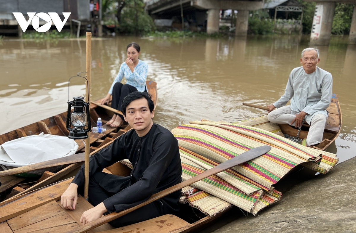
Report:
M125 121L133 130L121 135L99 153L90 157L89 202L95 206L83 213L84 224L104 213L120 212L146 201L182 181L178 141L173 134L153 123L154 104L147 92L132 92L124 98ZM133 169L129 177L102 172L122 159L129 159ZM64 208L74 210L78 191L84 186L84 165L61 197ZM179 210L180 190L111 221L114 227L127 226Z

